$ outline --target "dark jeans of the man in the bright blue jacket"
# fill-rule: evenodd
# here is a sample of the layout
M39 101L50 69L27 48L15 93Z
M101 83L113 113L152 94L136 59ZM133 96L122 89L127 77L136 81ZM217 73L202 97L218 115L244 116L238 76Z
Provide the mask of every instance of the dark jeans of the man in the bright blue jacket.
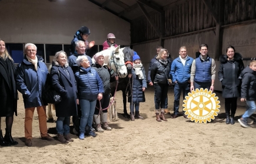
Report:
M188 95L190 91L189 83L183 83L183 84L175 83L175 87L174 87L174 114L175 115L179 113L179 98L181 97L181 91L183 93L183 100L184 100L185 96Z

